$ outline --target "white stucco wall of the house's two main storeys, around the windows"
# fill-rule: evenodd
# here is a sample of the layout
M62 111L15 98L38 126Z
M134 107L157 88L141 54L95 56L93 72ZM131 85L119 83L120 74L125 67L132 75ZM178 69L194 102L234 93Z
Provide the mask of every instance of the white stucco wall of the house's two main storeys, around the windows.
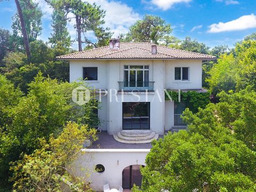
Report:
M83 67L98 67L98 81L88 81L95 89L106 89L108 95L102 99L99 116L102 130L114 134L122 130L122 101L138 102L132 94L116 94L118 82L124 79L124 65L149 65L149 81L154 81L155 93L140 95L140 102L150 102L150 130L159 134L173 126L173 103L164 102L164 89L201 89L201 60L74 60L70 61L70 81L83 76ZM189 81L175 82L174 68L189 67ZM115 91L116 90L116 91ZM116 96L114 96L116 94ZM116 98L117 101L116 102ZM111 100L111 102L109 102ZM162 101L162 102L161 102Z

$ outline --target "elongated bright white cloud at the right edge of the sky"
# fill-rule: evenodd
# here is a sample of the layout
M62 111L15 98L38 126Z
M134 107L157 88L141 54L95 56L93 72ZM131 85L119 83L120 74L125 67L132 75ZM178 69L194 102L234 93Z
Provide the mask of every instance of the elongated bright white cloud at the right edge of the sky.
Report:
M244 30L250 28L256 28L256 15L253 13L250 15L243 15L238 19L228 21L228 22L219 22L214 23L209 26L209 33L220 33L223 31L234 31L234 30Z

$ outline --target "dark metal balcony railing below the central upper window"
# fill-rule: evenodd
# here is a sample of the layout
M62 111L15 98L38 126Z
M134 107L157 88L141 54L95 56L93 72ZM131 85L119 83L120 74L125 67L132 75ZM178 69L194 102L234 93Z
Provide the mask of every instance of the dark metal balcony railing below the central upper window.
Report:
M118 82L119 91L154 91L154 82Z

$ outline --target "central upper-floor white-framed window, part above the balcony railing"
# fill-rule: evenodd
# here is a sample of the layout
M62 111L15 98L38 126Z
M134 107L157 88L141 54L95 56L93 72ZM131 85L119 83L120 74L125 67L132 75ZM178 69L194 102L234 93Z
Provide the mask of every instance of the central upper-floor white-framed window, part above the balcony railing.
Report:
M124 82L148 82L149 66L124 66Z

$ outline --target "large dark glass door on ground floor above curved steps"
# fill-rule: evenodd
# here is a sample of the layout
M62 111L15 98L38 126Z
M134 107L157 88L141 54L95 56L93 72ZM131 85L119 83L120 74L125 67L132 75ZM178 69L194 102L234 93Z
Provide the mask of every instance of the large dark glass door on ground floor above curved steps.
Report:
M123 130L149 130L149 102L123 102Z

